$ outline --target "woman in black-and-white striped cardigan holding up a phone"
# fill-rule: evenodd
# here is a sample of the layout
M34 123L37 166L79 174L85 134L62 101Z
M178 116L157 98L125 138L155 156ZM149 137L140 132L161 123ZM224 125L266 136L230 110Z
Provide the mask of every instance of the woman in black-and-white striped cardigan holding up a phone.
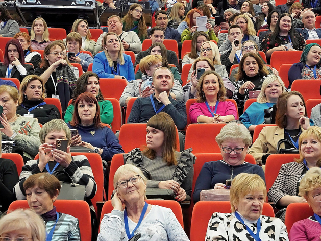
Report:
M39 126L39 124L38 124ZM39 127L40 129L40 127ZM59 181L73 182L85 186L86 200L94 197L97 185L87 158L81 156L71 156L70 146L67 152L56 148L56 141L68 140L70 144L71 133L67 124L62 119L53 119L43 125L38 135L40 137L39 158L31 160L22 167L19 182L14 187L14 193L18 200L26 199L26 192L23 190L23 183L33 174L64 170L65 173L59 173Z

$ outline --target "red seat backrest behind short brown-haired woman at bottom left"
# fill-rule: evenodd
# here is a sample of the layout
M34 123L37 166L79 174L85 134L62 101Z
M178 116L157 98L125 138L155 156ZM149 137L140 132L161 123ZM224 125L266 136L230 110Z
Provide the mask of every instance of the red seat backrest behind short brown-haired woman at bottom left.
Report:
M57 208L57 212L69 214L77 218L79 221L81 240L91 241L90 208L86 201L56 200L54 205ZM19 208L29 208L27 200L17 200L12 202L9 206L8 213Z

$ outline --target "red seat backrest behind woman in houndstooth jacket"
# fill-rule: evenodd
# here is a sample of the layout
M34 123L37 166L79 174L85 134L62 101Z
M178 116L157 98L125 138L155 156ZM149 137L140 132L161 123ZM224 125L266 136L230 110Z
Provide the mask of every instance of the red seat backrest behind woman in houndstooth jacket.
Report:
M295 158L299 157L299 154L272 154L267 157L265 164L265 183L267 191L269 191L275 179L278 177L281 166L293 162L295 161Z

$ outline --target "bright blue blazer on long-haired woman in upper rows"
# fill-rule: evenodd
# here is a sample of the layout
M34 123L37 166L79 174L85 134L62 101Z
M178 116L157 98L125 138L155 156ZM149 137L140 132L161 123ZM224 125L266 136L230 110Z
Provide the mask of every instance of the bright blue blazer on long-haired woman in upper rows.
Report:
M92 71L100 78L115 78L115 75L124 76L128 81L135 80L134 67L132 59L129 55L124 54L125 64L117 66L117 73L113 71L113 67L109 67L105 52L102 51L95 55L92 64Z

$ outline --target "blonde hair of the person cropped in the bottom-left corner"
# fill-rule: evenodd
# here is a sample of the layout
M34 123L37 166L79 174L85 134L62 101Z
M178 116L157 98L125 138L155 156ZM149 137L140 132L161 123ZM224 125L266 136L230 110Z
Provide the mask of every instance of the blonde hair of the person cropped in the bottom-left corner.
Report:
M0 236L17 230L30 231L33 241L46 239L44 221L31 209L17 209L0 219Z

